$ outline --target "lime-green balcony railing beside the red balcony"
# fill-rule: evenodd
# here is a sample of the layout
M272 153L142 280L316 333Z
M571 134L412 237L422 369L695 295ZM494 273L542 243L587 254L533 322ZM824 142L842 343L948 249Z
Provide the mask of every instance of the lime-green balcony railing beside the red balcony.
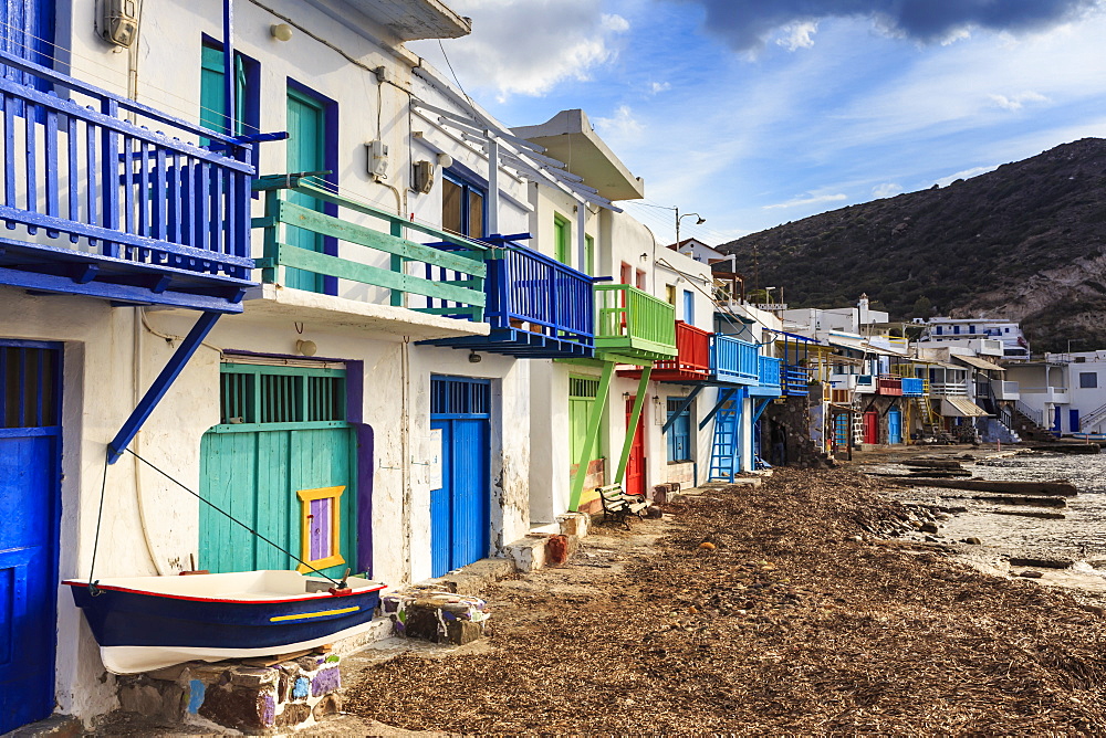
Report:
M595 350L659 360L676 350L676 308L628 284L595 285Z

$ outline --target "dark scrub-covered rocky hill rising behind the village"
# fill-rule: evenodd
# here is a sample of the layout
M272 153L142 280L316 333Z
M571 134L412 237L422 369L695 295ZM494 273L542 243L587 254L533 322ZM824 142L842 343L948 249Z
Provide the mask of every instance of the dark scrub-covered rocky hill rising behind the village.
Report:
M893 319L1021 320L1033 351L1106 348L1106 140L813 215L720 246L750 289L793 307L855 304Z

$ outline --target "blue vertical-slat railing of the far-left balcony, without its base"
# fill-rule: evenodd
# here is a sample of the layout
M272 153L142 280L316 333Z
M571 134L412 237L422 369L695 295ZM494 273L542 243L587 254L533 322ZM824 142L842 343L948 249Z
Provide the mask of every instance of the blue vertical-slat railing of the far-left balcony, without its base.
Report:
M0 77L9 229L56 256L249 280L251 145L8 52L0 62L32 83Z

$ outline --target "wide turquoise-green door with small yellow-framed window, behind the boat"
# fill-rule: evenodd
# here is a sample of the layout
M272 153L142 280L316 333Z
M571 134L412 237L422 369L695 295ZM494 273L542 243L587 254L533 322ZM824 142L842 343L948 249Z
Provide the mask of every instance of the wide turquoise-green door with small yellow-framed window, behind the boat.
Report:
M200 442L200 495L330 576L356 568L356 432L340 369L226 363L222 422ZM200 559L213 572L307 567L210 505Z

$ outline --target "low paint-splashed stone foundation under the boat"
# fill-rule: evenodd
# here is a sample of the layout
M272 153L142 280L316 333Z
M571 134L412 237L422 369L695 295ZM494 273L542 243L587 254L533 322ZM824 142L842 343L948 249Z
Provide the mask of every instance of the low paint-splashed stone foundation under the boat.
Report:
M121 710L174 725L212 725L272 735L314 725L341 710L341 656L312 652L272 665L263 660L190 662L118 677Z

